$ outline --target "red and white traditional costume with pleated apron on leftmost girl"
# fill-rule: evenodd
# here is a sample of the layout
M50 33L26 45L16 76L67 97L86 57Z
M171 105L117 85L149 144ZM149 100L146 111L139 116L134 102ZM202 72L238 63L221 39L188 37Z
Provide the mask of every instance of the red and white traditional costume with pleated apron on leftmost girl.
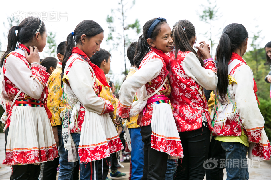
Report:
M50 75L45 67L30 65L24 51L30 53L27 47L19 44L7 55L1 70L1 103L5 104L7 115L1 118L6 121L3 165L12 165L12 174L20 171L19 167L23 168L14 165L39 164L58 157L48 119L51 114L43 102L48 94L46 82ZM40 167L33 171L39 173Z

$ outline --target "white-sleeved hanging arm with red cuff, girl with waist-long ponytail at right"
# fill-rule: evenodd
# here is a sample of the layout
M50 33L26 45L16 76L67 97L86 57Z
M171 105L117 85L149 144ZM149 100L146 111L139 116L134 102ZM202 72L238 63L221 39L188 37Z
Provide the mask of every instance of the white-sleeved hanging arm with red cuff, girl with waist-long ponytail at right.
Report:
M237 82L233 85L237 111L248 133L248 140L257 143L261 138L264 118L254 94L252 70L247 65L242 65L236 69L233 77Z

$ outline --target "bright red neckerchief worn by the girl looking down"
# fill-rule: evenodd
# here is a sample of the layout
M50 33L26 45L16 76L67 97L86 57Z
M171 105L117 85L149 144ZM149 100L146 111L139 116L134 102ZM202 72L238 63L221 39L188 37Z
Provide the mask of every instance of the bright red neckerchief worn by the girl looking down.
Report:
M104 85L104 86L108 86L108 83L106 81L105 75L104 75L104 71L102 69L100 69L97 65L93 64L92 62L90 62L89 57L78 47L73 47L72 48L72 53L76 53L78 54L82 59L84 59L86 62L88 62L88 64L90 65L90 67L92 67L95 76L97 77L97 79Z

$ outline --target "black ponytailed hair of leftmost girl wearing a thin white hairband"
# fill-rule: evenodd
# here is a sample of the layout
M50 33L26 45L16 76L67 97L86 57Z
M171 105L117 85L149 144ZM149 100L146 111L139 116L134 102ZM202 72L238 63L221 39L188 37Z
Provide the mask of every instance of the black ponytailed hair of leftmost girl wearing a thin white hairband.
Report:
M38 30L39 25L41 24L41 20L35 17L28 17L22 20L22 22L17 26L13 26L9 29L9 33L7 35L7 50L1 56L0 65L2 67L5 57L16 48L17 42L21 44L25 44L34 39L36 35L35 32ZM18 33L16 35L16 30ZM42 22L39 33L41 36L45 32L45 24Z

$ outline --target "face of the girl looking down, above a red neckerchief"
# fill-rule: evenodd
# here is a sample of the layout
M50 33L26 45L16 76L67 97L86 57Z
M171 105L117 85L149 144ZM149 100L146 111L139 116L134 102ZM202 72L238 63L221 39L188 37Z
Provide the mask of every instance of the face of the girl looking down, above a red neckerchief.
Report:
M82 35L83 36L83 35ZM82 40L82 51L88 56L92 57L97 51L100 51L100 44L102 43L104 39L104 33L101 32L100 34L97 34L95 36L92 36L90 38L85 37Z

